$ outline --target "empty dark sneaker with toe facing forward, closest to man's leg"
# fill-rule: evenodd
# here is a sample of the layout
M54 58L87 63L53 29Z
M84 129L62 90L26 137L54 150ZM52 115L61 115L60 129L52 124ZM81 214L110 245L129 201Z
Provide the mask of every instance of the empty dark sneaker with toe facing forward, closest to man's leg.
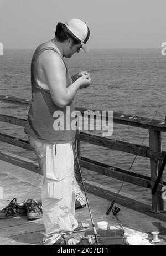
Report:
M42 204L39 201L28 199L26 202L27 219L39 219L42 211Z

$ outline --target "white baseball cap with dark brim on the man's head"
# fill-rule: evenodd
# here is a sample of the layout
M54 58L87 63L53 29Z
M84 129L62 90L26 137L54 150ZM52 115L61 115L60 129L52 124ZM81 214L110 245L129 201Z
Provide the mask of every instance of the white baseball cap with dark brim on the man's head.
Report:
M65 25L70 32L81 41L84 52L88 53L89 48L87 47L86 42L89 39L90 30L86 23L80 19L70 19L70 21L66 22Z

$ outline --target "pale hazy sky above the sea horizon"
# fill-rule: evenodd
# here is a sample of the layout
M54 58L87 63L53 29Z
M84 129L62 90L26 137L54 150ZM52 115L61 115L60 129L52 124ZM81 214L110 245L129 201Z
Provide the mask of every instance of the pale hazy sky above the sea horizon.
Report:
M0 0L4 48L35 48L58 22L89 25L90 48L160 48L166 41L166 0Z

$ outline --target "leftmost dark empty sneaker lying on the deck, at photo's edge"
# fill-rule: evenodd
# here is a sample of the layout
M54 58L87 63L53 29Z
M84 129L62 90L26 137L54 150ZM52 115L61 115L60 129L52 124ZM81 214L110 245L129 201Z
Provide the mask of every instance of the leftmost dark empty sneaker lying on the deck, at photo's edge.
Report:
M25 207L25 201L17 203L17 199L13 200L0 211L0 219L9 219L18 215L26 215L27 210Z

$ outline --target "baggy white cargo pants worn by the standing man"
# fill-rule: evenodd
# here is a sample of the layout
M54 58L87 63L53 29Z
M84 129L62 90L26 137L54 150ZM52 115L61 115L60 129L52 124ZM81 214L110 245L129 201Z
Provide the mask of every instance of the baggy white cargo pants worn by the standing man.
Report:
M44 175L42 186L43 243L54 244L78 226L75 219L74 156L72 143L50 144L29 137Z

